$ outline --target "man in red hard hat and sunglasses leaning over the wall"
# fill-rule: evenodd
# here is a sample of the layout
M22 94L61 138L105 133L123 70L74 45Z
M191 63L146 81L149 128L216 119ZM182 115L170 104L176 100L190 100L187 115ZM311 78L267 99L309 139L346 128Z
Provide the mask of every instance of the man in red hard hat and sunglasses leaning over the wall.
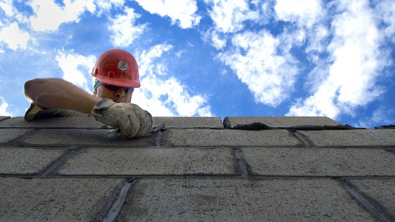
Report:
M32 103L24 119L37 117L90 117L120 128L124 138L141 137L152 130L152 116L130 103L133 90L140 87L135 58L122 49L102 53L92 70L96 77L94 96L62 79L33 79L24 84Z

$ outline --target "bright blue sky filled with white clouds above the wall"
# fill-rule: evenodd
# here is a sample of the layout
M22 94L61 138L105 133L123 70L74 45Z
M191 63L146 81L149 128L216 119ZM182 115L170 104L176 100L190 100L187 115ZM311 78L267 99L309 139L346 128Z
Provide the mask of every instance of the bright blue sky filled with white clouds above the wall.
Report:
M121 48L139 65L132 103L153 116L327 116L395 124L393 0L0 0L0 115L24 82L93 92Z

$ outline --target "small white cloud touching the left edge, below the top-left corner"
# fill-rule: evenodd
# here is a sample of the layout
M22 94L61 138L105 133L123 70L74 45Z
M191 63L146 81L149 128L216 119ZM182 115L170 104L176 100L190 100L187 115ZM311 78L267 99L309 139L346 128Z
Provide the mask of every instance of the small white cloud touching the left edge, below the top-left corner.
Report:
M35 41L30 34L19 29L18 23L13 22L0 31L0 42L6 43L8 48L17 50L26 49L29 40Z

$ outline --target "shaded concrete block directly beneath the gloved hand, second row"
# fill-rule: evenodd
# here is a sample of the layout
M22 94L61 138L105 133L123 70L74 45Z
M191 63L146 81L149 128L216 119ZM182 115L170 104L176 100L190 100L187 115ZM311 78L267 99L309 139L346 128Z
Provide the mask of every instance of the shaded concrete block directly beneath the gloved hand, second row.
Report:
M150 134L137 139L122 139L120 134L108 138L106 134L109 131L111 130L41 129L24 138L23 143L26 145L43 146L151 146L155 143L155 137L158 134Z

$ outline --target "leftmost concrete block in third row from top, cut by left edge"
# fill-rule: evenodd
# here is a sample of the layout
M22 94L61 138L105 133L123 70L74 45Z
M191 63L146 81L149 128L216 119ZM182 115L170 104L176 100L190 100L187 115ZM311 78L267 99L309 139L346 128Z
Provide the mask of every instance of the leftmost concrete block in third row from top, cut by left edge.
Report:
M47 169L67 150L39 148L0 148L0 174L32 174Z

